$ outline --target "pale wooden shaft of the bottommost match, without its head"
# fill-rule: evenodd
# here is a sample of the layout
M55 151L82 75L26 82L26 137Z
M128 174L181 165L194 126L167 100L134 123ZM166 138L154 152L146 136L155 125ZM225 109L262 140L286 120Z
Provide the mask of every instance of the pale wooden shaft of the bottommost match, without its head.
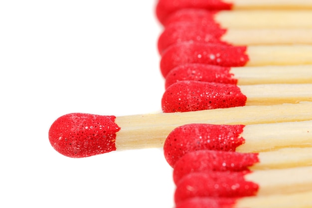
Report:
M233 208L312 208L312 191L295 194L244 197Z

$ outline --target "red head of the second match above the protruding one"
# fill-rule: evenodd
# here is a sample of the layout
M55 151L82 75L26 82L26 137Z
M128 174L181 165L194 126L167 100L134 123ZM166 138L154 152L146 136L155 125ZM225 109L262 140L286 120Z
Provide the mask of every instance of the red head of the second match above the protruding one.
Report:
M237 84L238 80L230 72L231 67L188 63L173 68L165 77L165 88L178 81L193 80L202 82L217 82Z

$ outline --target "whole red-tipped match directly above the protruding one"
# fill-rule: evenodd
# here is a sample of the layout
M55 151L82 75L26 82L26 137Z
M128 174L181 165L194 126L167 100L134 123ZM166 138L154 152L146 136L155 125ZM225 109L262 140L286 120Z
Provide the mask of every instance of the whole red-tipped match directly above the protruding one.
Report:
M180 81L163 93L165 113L312 101L312 84L235 85Z

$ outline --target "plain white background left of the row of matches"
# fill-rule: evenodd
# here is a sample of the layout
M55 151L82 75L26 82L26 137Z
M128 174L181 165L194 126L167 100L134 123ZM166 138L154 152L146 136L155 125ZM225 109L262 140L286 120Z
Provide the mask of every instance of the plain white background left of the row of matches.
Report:
M161 110L156 0L0 1L0 207L172 208L162 149L84 159L57 153L72 112Z

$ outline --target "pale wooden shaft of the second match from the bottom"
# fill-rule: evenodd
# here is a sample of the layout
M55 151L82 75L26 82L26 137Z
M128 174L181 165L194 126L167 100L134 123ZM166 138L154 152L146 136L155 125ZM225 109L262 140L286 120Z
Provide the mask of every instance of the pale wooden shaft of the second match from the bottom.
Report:
M245 180L259 185L257 196L312 191L312 166L255 171Z

